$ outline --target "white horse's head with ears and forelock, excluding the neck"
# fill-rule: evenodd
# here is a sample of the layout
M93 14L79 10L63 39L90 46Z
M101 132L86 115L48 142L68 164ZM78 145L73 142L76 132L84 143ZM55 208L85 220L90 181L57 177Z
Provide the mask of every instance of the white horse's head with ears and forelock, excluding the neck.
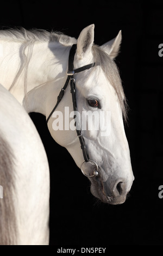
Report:
M122 204L134 176L123 124L123 119L127 119L126 98L114 62L120 49L121 31L102 46L94 45L93 41L94 25L90 25L79 35L73 60L76 70L95 63L92 68L73 75L78 110L76 126L78 121L91 161L84 161L74 120L69 129L54 131L52 121L48 127L55 141L70 152L79 168L82 166L82 172L91 181L92 194L102 202ZM73 119L70 90L57 107L66 121L65 107L68 107L68 118Z

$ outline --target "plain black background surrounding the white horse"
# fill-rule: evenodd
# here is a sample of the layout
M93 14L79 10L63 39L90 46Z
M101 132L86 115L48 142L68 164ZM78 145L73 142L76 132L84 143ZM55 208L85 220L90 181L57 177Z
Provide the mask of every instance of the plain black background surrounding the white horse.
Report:
M45 117L31 113L51 170L50 245L162 245L162 21L162 0L3 3L2 28L53 29L78 38L84 27L95 23L98 45L122 29L116 63L130 107L126 135L135 181L126 203L97 202L72 157L49 135Z

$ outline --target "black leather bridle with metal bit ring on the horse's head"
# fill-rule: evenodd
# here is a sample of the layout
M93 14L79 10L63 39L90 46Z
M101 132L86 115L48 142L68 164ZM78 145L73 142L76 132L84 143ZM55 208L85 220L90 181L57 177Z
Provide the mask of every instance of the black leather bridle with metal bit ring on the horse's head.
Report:
M67 80L65 82L65 85L63 88L61 88L61 91L57 97L57 103L55 105L55 107L53 108L52 112L49 114L46 122L48 123L49 119L51 118L53 112L55 111L55 109L57 108L59 102L61 101L62 97L64 96L64 93L65 93L65 90L68 86L68 83L70 82L70 87L71 87L71 94L72 94L72 103L73 103L73 110L74 110L74 113L76 113L77 111L77 100L76 100L76 84L75 84L75 79L73 77L74 74L76 73L79 73L79 72L82 72L84 70L87 70L87 69L90 69L92 68L93 66L95 66L95 63L91 63L89 65L85 65L85 66L82 66L81 68L78 68L78 69L74 69L73 68L73 61L74 61L74 55L76 53L76 49L77 49L77 45L72 45L71 47L71 50L70 50L70 54L69 54L69 58L68 58L68 71L67 71ZM74 119L76 119L76 115L74 115ZM75 126L77 127L77 124L75 122ZM87 177L93 177L93 176L98 176L99 173L98 173L98 165L95 161L93 160L90 160L89 159L89 154L87 152L87 149L86 149L86 146L85 146L85 142L84 142L84 137L83 137L83 134L82 134L82 130L78 130L76 129L77 131L77 135L78 135L78 138L79 138L79 141L80 141L80 146L81 146L81 149L83 151L83 157L84 157L84 161L83 163L81 164L81 170L82 170L82 173L87 176ZM93 171L92 175L87 175L84 173L84 168L83 168L83 164L85 162L90 162L90 163L93 163L95 164L95 167L96 167L96 170Z

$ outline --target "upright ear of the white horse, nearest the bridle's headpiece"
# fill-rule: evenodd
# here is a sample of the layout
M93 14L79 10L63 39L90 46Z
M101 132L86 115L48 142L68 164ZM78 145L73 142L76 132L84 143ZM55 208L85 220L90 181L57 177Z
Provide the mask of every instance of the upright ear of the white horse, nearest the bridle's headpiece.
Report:
M77 57L82 59L85 53L91 51L94 41L94 29L95 25L92 24L83 29L80 33L77 41Z

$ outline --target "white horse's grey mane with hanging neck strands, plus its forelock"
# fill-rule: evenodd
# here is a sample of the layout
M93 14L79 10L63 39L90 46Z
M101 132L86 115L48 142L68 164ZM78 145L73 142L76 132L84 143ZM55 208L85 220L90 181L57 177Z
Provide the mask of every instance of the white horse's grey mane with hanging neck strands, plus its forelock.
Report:
M24 58L24 62L18 70L15 80L12 82L10 89L14 86L17 78L20 76L22 70L25 68L24 75L24 94L27 95L27 84L26 84L26 76L29 60L32 57L32 49L33 45L36 41L39 42L60 42L60 44L65 46L71 46L73 44L77 44L77 40L70 36L64 35L62 33L57 32L48 32L43 29L32 29L27 31L24 28L20 29L7 29L4 31L0 31L1 39L8 40L16 40L21 41L23 44L22 47L22 56L25 56L25 50L29 47L28 54L26 58ZM97 45L93 45L92 47L93 56L95 58L95 62L97 65L100 65L106 75L106 78L111 83L112 87L114 87L115 92L117 93L118 100L120 102L120 106L122 109L124 120L127 121L127 102L126 97L123 92L123 87L121 83L121 78L117 69L117 66L109 55L102 50L101 47ZM26 62L26 63L25 63Z

